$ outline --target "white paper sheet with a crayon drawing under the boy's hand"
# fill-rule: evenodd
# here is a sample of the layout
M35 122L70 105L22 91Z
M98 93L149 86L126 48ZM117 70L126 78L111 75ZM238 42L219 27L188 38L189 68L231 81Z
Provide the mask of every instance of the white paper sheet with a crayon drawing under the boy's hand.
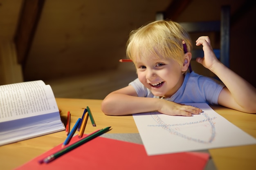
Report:
M204 103L186 104L203 110L192 117L157 112L133 115L148 155L256 144L256 139Z

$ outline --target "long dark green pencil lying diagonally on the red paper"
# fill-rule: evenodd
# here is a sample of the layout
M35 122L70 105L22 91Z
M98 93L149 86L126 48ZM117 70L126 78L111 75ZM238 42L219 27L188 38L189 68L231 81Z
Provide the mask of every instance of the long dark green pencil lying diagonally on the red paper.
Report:
M110 129L110 127L106 127L104 129L98 130L97 132L93 132L92 135L88 135L87 137L77 141L76 143L74 143L70 146L67 146L66 148L63 148L62 150L59 150L58 152L55 152L52 155L49 155L48 157L43 159L43 162L44 163L49 163L49 162L53 161L54 159L56 159L58 157L61 157L65 153L73 150L74 148L77 148L77 147L81 146L85 142L88 142L88 141L94 139L95 137L98 137L98 136L102 135L103 133L107 132Z

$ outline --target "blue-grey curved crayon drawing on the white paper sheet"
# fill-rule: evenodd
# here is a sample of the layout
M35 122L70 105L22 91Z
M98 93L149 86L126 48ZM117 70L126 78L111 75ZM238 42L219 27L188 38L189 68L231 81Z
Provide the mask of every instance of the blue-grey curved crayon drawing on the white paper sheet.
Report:
M162 120L161 117L159 117L159 115L161 114L157 112L151 113L151 117L157 122L157 125L148 125L148 126L161 127L164 130L167 130L172 135L177 135L184 139L188 139L190 141L195 141L202 144L211 143L216 136L216 129L215 129L215 124L213 120L216 119L217 117L211 118L205 112L201 113L201 115L204 116L204 119L202 120L186 122L186 123L178 123L178 124L166 124L164 120ZM200 129L208 128L210 132L210 134L208 133L209 137L203 139L203 137L199 137L199 136L195 137L193 135L191 136L190 133L184 133L184 131L182 132L182 128L193 128L195 126Z

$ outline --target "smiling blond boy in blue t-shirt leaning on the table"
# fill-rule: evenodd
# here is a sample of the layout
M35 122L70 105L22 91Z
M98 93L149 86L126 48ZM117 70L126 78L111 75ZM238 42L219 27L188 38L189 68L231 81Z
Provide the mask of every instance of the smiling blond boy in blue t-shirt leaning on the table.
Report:
M135 64L138 78L107 95L101 105L103 113L130 115L157 110L166 115L191 116L202 112L180 104L192 102L256 113L256 88L216 58L209 37L199 37L196 45L202 45L204 51L204 57L196 61L222 82L188 72L191 40L178 23L155 21L132 31L126 52Z

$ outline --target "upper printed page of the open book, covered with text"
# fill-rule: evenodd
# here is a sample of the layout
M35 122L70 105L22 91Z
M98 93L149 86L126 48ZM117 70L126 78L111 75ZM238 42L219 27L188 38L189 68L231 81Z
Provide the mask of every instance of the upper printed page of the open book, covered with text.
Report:
M52 89L42 82L0 86L0 122L57 112Z

